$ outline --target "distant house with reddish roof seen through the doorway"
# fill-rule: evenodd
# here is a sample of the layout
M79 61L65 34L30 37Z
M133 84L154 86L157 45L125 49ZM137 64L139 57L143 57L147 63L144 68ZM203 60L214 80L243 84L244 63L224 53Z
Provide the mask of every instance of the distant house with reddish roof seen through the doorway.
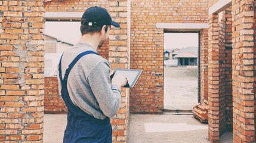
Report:
M178 60L178 66L198 66L198 47L189 46L172 54Z

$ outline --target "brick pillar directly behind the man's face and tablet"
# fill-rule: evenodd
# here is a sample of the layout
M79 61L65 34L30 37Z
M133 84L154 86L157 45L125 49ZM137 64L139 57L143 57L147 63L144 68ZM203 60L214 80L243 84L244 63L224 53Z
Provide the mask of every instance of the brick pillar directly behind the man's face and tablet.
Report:
M121 27L112 26L109 36L109 61L112 70L116 68L129 69L128 56L128 24L127 1L110 0L110 15ZM113 142L126 142L129 115L129 89L122 88L121 107L118 114L111 119Z

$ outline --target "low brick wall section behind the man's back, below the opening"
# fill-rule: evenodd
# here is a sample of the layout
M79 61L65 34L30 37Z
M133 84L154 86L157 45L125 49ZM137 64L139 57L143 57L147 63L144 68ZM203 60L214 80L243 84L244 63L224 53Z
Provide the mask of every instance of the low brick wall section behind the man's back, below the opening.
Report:
M45 77L44 89L44 113L63 114L67 113L67 107L58 94L58 79L56 76Z

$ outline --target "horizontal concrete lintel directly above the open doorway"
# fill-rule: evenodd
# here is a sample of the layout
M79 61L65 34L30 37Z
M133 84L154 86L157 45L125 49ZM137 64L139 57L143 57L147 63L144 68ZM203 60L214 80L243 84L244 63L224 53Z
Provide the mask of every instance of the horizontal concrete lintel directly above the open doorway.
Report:
M208 29L208 23L156 23L156 27L166 30L202 30Z

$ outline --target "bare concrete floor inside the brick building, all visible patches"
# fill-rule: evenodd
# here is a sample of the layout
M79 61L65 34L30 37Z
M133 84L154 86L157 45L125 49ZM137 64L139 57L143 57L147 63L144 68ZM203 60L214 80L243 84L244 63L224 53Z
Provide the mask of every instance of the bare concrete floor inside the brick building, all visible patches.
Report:
M66 114L44 114L44 142L61 143L67 123ZM192 114L130 114L128 143L208 143L208 125ZM225 133L220 143L232 143Z

